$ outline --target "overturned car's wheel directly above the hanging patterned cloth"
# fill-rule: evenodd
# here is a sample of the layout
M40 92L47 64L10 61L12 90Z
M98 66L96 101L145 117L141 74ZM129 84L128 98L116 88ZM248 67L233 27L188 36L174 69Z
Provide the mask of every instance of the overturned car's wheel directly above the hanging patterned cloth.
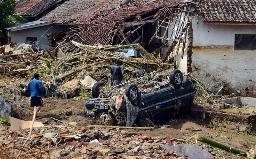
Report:
M138 101L140 98L138 87L134 84L126 86L124 93L131 103Z

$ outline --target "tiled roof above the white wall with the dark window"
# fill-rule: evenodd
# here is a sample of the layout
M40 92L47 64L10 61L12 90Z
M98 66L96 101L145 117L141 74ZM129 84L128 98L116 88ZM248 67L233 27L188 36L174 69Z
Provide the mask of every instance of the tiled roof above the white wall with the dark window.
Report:
M255 0L203 0L196 9L209 22L256 22Z

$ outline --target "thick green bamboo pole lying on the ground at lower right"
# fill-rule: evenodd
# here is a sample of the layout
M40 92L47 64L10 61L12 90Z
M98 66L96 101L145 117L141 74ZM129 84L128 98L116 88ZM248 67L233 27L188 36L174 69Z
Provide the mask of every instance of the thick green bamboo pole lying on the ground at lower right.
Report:
M197 140L197 141L201 141L201 142L204 142L206 144L209 144L209 145L212 145L214 147L217 147L217 148L220 148L222 150L225 150L225 151L228 151L228 152L232 152L236 155L242 155L244 157L247 157L246 156L246 152L244 151L241 151L241 150L238 150L236 148L231 148L231 147L228 147L227 145L224 145L224 144L221 144L217 141L213 141L211 139L208 139L206 137L203 137L203 136L199 136L199 135L195 135L194 138Z

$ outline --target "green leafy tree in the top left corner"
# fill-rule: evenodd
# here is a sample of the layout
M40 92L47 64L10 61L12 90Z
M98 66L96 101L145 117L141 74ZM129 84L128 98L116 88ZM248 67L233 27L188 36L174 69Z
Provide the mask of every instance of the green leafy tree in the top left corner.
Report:
M11 25L17 25L16 19L25 20L21 15L15 13L15 6L15 0L0 0L1 38L6 37L6 27Z

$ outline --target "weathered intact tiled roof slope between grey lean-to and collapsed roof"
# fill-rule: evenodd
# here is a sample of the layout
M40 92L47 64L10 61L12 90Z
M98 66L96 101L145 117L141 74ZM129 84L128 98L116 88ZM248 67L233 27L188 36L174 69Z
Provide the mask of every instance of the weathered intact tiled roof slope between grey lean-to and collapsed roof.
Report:
M90 1L66 1L40 20L53 21L57 24L85 24L99 17L104 17L110 12L118 10L121 6L140 5L148 0L138 1L112 1L112 0L90 0Z

